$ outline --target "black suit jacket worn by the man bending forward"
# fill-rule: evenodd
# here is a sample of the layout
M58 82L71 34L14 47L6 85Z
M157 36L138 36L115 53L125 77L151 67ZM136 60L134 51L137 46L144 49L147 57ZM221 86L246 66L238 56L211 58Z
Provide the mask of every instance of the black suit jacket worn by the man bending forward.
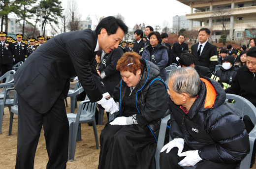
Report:
M90 100L100 100L106 89L91 64L96 43L97 34L90 29L51 38L15 73L15 90L35 111L46 113L60 96L66 97L69 80L77 75Z

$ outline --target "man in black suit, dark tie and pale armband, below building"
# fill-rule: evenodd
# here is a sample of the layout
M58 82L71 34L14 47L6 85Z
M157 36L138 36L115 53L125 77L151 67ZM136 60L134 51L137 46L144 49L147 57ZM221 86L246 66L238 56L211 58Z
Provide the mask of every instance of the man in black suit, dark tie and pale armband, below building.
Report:
M218 53L217 47L207 42L210 33L208 28L201 28L198 34L199 43L192 45L191 52L195 57L196 65L208 67L213 72L218 63Z

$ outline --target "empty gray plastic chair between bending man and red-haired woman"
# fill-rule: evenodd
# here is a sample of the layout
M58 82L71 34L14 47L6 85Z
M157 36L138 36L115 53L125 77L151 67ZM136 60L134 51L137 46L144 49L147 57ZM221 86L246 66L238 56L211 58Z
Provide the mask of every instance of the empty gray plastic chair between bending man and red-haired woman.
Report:
M97 103L91 103L89 99L81 101L77 113L67 114L69 122L69 141L68 141L68 161L74 161L76 141L81 141L81 123L93 122L96 149L99 148L98 135L96 129Z

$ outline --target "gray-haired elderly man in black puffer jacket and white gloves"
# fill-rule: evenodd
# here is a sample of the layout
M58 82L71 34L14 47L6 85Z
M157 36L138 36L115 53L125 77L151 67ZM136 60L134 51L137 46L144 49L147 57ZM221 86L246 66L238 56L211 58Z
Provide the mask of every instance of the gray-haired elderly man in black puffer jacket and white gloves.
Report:
M222 87L191 67L172 70L168 93L172 141L160 154L161 169L235 169L250 151L243 121L224 103Z

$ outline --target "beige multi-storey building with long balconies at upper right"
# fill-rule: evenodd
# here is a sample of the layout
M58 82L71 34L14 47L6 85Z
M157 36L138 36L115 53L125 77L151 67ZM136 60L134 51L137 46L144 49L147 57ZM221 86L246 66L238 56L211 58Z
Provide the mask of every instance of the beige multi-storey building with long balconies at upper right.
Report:
M256 28L256 0L178 0L191 7L186 19L200 22L202 27L214 32L213 38L219 38L224 30L229 32L228 39L242 40L244 32ZM196 9L193 11L193 9ZM250 33L249 33L250 34Z

